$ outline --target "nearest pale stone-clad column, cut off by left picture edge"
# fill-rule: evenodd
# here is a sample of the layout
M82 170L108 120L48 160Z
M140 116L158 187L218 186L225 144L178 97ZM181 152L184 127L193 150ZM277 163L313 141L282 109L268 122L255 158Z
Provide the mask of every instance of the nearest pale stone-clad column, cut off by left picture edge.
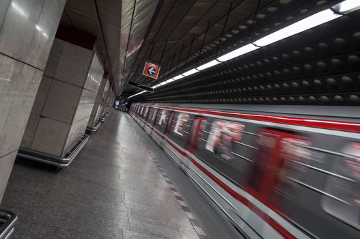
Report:
M65 2L0 1L0 201Z

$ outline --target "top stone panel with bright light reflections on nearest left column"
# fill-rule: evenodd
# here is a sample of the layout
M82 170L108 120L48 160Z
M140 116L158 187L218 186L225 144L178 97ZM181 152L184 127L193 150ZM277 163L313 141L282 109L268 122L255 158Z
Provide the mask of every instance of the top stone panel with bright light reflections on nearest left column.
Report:
M11 0L1 3L1 8L7 5L7 11L0 29L0 53L43 70L65 2Z

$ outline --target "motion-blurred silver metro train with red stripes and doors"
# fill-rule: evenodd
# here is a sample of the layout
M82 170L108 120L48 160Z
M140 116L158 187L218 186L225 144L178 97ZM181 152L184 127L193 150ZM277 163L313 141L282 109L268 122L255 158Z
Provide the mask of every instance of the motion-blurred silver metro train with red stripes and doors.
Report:
M360 238L359 107L134 103L130 115L248 238Z

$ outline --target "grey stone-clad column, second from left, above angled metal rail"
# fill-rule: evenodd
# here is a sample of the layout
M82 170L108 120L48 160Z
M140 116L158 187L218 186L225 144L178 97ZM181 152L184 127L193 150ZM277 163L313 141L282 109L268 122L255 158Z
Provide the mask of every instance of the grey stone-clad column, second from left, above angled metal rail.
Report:
M85 133L104 70L95 38L77 34L55 38L21 147L64 157ZM77 45L83 37L92 44Z

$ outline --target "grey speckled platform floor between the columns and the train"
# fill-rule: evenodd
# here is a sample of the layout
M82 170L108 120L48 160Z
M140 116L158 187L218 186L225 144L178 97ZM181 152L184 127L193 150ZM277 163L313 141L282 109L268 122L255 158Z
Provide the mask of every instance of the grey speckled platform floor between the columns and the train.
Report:
M122 111L67 169L16 160L1 208L19 216L15 238L240 238Z

